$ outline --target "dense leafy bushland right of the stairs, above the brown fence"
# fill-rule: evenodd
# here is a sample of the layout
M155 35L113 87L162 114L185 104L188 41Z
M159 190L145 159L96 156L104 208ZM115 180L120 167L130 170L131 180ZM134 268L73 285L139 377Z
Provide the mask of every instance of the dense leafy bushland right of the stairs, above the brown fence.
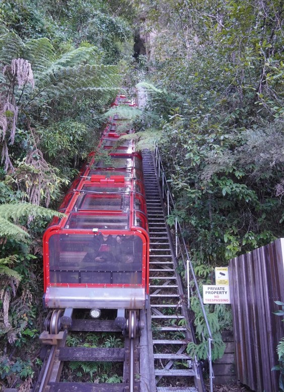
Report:
M283 236L283 2L139 2L151 42L145 142L159 146L200 284L214 268ZM200 306L192 297L206 357ZM206 305L222 356L230 308Z

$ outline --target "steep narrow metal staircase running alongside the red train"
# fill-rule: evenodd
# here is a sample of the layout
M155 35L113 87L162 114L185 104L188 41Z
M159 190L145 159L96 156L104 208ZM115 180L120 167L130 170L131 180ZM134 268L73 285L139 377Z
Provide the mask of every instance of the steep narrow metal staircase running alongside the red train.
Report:
M143 151L150 230L150 306L157 391L202 392L199 367L186 353L193 341L183 287L175 273L170 232L152 152ZM194 386L188 386L194 385Z

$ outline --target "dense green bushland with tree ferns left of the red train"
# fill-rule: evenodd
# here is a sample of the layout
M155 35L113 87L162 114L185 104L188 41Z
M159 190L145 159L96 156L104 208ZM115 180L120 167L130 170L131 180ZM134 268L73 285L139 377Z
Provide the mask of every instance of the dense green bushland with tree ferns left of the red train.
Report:
M127 2L1 3L0 377L6 386L29 388L36 369L44 318L41 238L55 214L41 206L58 207L96 148L102 114L131 62L133 17Z

